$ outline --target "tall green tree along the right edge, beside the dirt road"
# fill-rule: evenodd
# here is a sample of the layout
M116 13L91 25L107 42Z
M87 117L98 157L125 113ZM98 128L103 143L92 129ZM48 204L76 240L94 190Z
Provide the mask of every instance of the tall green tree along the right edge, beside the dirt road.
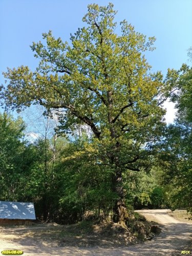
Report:
M166 173L170 205L173 208L186 207L192 212L192 68L183 64L174 73L177 91L172 101L176 103L177 115L175 124L167 127L162 156L168 162Z

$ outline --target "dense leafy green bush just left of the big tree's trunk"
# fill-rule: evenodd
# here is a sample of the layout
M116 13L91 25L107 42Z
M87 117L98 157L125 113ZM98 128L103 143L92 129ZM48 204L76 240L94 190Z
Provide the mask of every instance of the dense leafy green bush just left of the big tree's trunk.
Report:
M71 205L72 209L84 218L87 211L94 211L96 216L104 215L112 209L112 200L116 198L109 178L110 169L97 164L95 151L91 145L79 139L70 143L63 154L58 169L63 172L60 204Z

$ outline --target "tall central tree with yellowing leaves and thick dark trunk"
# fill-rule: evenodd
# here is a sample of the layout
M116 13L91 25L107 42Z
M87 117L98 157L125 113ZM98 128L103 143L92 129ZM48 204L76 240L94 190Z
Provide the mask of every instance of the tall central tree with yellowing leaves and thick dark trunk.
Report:
M62 109L63 131L87 124L98 152L98 164L111 170L111 188L117 194L114 221L127 218L122 173L146 164L151 145L160 136L165 111L161 104L172 91L160 72L150 74L144 52L153 50L154 37L138 33L123 20L114 31L113 4L88 6L86 27L71 35L71 42L43 33L31 46L40 58L35 72L28 67L8 69L9 83L1 97L12 109L41 104L47 111Z

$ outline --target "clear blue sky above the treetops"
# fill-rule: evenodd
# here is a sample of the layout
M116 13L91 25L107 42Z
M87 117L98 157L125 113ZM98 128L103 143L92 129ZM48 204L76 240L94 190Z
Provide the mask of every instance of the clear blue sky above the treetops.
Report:
M34 69L37 60L29 47L32 41L41 40L41 33L49 30L68 40L70 33L83 26L88 4L109 2L118 11L117 22L126 19L136 31L157 38L156 50L146 55L152 71L165 74L167 68L179 69L187 62L187 50L192 46L191 0L1 0L0 72L20 65Z

